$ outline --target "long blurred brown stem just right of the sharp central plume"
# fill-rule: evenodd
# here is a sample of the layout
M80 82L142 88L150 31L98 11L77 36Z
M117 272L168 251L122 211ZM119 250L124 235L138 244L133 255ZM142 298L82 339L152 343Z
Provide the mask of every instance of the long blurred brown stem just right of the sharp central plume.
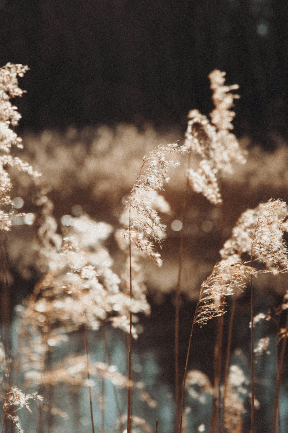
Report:
M188 170L190 168L191 153L188 154ZM182 216L182 232L180 237L180 248L179 248L179 268L176 288L176 313L175 313L175 405L176 405L176 430L179 425L179 310L180 310L180 284L181 284L181 273L183 264L183 253L184 253L184 233L187 213L187 201L189 191L189 177L186 177L186 188L183 205L183 216Z

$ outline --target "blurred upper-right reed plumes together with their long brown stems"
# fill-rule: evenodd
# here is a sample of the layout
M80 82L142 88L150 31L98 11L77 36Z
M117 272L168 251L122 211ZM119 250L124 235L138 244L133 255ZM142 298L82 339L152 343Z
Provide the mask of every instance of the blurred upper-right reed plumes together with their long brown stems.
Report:
M241 150L238 141L234 134L230 132L233 129L231 120L233 120L235 113L231 111L234 105L234 99L238 99L239 95L231 93L231 90L238 89L238 85L231 86L225 85L225 72L218 70L212 71L209 74L210 88L213 91L212 100L214 103L214 110L210 113L211 122L206 116L199 113L198 110L191 110L188 114L188 126L186 132L185 145L190 152L193 152L195 158L194 164L191 167L189 164L187 172L187 184L193 188L197 193L202 193L212 204L222 205L222 196L219 187L218 178L224 173L233 172L233 164L246 162L244 152ZM186 190L187 194L187 190ZM185 199L187 203L187 198ZM184 204L184 207L186 205ZM186 210L184 210L185 216ZM222 211L222 229L224 227L224 217ZM183 255L183 233L180 242L180 257ZM223 237L223 236L222 236ZM179 321L179 296L180 296L180 277L181 277L181 259L178 272L177 284L177 308L175 320L175 359L176 365L178 364L178 321ZM202 296L200 294L200 296ZM220 297L218 300L222 302ZM198 307L198 305L197 305ZM216 308L221 310L222 307ZM221 316L221 314L217 314ZM196 317L196 316L195 316ZM215 346L215 385L220 390L220 374L221 374L221 349L222 349L222 321L218 322L217 342ZM193 325L192 325L193 328ZM190 347L190 344L188 344ZM216 369L216 365L218 365ZM216 371L217 370L217 371ZM185 370L186 371L186 370ZM178 373L176 377L176 406L178 403ZM185 373L184 373L185 382ZM182 388L183 399L184 386ZM219 391L220 394L220 391ZM183 404L181 404L183 407ZM215 408L216 397L214 404L213 421L215 423ZM182 409L181 409L182 410ZM176 410L178 420L178 407ZM213 430L213 429L212 429Z

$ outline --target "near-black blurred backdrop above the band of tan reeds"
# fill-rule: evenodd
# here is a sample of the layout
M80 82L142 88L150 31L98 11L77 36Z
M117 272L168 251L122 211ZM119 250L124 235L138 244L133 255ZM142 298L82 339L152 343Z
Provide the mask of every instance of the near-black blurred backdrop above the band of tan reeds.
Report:
M0 64L27 64L21 129L133 122L185 129L207 75L240 85L237 136L288 139L287 0L0 0Z

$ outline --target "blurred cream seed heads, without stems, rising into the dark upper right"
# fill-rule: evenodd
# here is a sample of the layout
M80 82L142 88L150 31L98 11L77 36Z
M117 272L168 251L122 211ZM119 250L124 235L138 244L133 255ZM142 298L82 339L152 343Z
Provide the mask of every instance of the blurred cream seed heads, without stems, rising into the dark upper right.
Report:
M235 113L231 111L234 99L239 95L230 93L238 89L237 84L224 85L225 72L218 70L209 74L212 100L215 109L210 113L211 123L198 110L188 114L188 127L185 146L198 156L196 168L189 168L188 178L194 191L202 193L212 204L221 204L222 198L217 175L232 173L234 162L244 164L246 159L234 134L231 120Z

